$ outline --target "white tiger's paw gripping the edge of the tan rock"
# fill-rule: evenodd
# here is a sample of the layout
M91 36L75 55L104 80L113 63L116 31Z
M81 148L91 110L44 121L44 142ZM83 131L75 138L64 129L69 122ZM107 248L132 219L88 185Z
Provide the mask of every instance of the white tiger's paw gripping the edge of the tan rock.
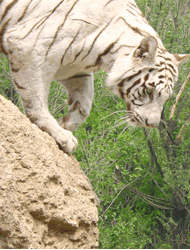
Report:
M53 136L58 145L66 153L72 153L78 146L78 141L72 134L72 132L61 129L56 136Z

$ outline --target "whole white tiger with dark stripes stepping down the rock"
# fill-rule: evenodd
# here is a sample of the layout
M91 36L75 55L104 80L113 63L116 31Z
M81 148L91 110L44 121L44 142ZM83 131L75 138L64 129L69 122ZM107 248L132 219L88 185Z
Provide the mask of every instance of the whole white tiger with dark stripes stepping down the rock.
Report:
M133 0L0 0L0 51L10 61L26 115L71 153L72 132L90 113L93 73L127 104L134 126L156 127L172 95L178 66ZM67 89L69 112L48 111L53 78Z

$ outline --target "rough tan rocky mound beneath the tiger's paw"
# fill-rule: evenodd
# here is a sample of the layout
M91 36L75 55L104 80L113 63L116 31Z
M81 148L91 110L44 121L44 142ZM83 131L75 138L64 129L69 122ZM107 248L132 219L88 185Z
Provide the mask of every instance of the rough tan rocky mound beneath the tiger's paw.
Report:
M0 96L0 248L97 248L97 205L75 158Z

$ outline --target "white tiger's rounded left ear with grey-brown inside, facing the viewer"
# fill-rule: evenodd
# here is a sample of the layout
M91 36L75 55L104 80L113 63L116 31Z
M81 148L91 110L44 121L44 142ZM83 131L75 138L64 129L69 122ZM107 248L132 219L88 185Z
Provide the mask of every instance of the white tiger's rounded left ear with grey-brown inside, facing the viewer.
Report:
M148 61L154 61L157 47L158 43L154 37L145 37L135 50L134 57L142 58Z

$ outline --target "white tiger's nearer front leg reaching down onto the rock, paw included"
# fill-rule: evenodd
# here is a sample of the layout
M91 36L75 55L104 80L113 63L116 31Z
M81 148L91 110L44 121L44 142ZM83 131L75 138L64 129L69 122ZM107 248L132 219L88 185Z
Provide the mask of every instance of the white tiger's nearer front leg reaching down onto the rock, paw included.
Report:
M67 153L78 145L72 132L63 129L48 110L48 94L57 65L40 53L17 43L9 42L8 58L12 79L22 99L27 117L40 129L48 132Z

